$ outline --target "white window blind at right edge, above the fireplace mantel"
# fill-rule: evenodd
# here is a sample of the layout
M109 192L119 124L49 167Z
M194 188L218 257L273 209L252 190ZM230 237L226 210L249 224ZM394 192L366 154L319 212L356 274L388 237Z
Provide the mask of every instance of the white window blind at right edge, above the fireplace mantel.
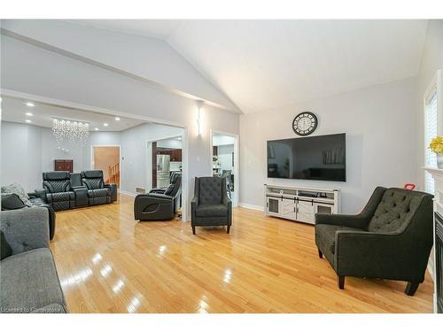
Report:
M426 166L436 167L437 156L428 149L432 138L437 136L437 89L432 89L431 93L426 97L424 104L424 164ZM425 175L424 189L431 194L434 193L434 180L428 172Z

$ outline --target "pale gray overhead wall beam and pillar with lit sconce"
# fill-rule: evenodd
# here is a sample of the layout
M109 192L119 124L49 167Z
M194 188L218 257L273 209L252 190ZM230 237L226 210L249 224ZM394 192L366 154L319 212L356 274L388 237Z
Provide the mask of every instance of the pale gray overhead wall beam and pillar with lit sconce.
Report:
M193 196L195 176L212 175L210 128L238 133L238 115L235 113L204 104L203 131L198 135L197 104L189 98L154 89L141 81L63 57L4 35L1 38L2 89L186 127L188 142L183 144L189 152L189 181L185 186L189 190L188 197ZM130 183L129 187L134 188L135 185L136 183Z

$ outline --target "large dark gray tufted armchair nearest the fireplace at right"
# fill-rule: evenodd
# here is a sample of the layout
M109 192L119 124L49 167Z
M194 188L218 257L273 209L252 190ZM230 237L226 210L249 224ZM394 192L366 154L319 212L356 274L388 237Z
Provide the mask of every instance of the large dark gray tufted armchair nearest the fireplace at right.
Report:
M315 244L320 258L338 275L408 282L413 296L432 247L432 196L406 189L377 187L357 215L315 215Z

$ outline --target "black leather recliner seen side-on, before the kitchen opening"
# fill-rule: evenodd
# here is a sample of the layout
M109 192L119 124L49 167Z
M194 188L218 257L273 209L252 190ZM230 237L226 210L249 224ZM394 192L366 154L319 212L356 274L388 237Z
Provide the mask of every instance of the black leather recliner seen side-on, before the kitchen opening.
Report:
M136 196L134 216L136 220L171 220L175 216L182 193L182 174L172 175L166 189L152 189L148 194Z

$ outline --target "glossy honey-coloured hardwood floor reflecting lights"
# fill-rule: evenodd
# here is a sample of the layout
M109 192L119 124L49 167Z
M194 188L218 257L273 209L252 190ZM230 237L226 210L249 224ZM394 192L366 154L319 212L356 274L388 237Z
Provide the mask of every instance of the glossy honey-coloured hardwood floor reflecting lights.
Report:
M224 228L136 222L133 198L57 212L51 242L71 313L431 313L429 275L405 282L346 278L318 258L314 228L234 209Z

